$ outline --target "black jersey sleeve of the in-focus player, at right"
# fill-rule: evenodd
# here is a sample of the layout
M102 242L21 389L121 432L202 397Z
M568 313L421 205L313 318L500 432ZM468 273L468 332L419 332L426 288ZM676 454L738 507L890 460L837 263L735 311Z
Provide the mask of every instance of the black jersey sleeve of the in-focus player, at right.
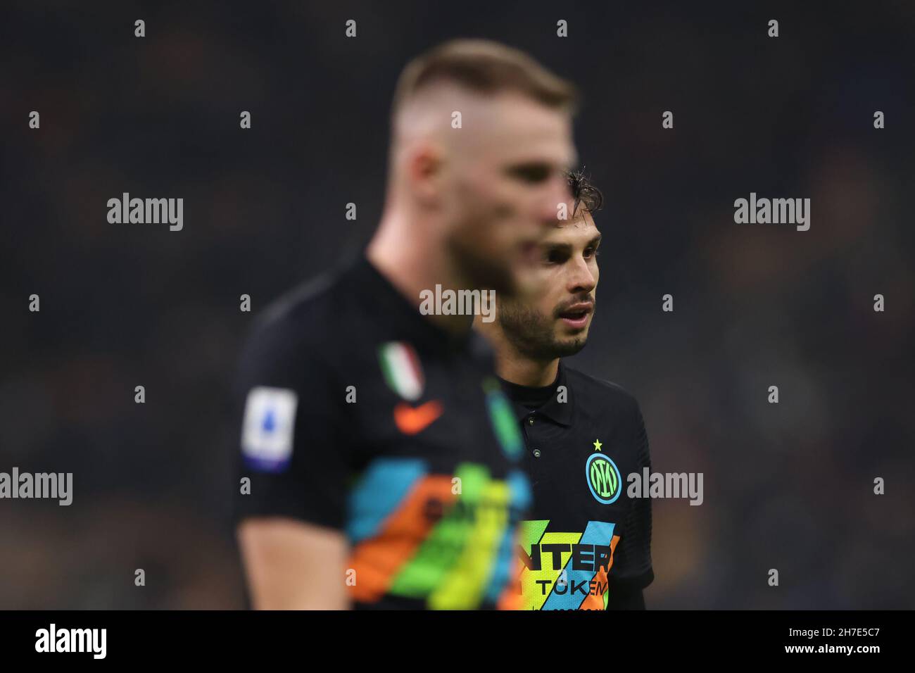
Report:
M645 420L641 416L638 402L633 407L631 428L631 446L636 451L637 469L641 472L647 467L651 472L648 433L645 431ZM631 499L617 558L614 560L614 570L611 575L615 578L614 583L627 588L643 589L654 580L651 568L651 498Z

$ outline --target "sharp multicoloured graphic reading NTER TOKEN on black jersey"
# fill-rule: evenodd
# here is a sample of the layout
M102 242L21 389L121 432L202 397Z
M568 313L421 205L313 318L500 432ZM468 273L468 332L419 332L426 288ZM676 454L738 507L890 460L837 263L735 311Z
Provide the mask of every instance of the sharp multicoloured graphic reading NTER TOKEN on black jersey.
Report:
M619 536L589 521L584 533L546 532L549 519L523 521L519 562L523 610L605 610Z

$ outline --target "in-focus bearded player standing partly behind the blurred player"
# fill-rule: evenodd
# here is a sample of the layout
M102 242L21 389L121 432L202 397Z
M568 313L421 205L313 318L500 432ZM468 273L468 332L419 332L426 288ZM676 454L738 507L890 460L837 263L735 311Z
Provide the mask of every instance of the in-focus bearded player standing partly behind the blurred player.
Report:
M533 487L516 592L526 610L643 609L651 500L624 493L626 475L651 465L639 405L560 360L585 346L599 276L592 213L602 197L581 173L569 184L573 216L542 244L536 299L498 297L496 320L477 321L495 345Z

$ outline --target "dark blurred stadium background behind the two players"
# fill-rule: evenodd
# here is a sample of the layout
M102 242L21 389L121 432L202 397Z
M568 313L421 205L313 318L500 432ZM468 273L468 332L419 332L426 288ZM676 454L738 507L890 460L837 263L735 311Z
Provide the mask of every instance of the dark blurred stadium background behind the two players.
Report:
M0 501L0 608L244 605L239 347L368 241L394 81L453 37L584 92L607 205L575 364L639 398L655 470L705 473L704 505L654 502L649 607L915 607L915 5L735 5L7 0L0 471L74 472L74 499ZM184 230L108 223L124 191L184 198ZM735 224L751 191L810 198L810 231Z

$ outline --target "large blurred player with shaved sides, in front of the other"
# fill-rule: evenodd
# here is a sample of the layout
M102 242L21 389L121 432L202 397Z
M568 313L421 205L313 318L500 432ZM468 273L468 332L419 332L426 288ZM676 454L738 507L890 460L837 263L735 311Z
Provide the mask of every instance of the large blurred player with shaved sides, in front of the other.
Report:
M242 355L237 509L255 607L485 608L511 585L530 500L521 435L470 318L421 315L420 295L517 289L523 253L569 199L574 100L490 42L404 70L367 255L268 310Z

